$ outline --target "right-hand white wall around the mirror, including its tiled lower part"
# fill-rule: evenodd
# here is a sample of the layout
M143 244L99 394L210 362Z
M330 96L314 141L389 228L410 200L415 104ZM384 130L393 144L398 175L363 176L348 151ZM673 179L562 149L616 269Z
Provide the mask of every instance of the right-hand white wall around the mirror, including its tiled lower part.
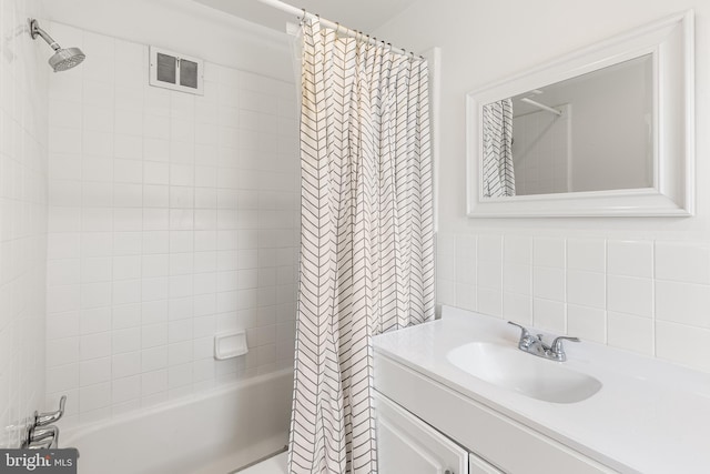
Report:
M687 219L468 219L465 100L526 68L696 10L697 130L709 127L710 3L422 0L374 34L442 47L438 299L710 372L710 189ZM710 180L698 133L697 182Z

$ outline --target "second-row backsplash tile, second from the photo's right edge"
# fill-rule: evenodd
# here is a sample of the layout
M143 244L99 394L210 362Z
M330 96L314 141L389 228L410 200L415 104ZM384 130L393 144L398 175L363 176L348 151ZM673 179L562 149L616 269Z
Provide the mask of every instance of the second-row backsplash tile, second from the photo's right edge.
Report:
M618 313L651 317L653 281L632 276L607 276L607 309Z

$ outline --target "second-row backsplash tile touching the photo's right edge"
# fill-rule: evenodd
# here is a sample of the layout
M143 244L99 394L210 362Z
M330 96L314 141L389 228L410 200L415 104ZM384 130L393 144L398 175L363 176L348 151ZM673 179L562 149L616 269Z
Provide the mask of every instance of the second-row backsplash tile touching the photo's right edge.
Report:
M709 307L710 285L656 281L658 320L710 329Z

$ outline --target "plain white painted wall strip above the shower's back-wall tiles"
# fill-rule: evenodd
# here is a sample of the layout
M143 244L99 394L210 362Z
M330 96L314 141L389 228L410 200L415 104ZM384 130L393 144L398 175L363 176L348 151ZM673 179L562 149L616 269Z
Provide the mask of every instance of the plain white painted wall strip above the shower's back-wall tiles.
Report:
M277 32L192 0L41 1L64 24L293 82L285 26Z

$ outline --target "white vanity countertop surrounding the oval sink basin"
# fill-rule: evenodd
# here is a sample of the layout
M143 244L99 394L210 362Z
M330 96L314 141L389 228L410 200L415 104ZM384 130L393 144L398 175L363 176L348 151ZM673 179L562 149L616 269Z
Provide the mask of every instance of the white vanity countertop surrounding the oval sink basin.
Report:
M487 383L446 357L475 341L517 347L519 335L503 320L445 307L442 320L378 335L374 346L620 472L710 473L710 374L601 344L567 343L564 367L595 376L604 386L587 400L560 404Z

